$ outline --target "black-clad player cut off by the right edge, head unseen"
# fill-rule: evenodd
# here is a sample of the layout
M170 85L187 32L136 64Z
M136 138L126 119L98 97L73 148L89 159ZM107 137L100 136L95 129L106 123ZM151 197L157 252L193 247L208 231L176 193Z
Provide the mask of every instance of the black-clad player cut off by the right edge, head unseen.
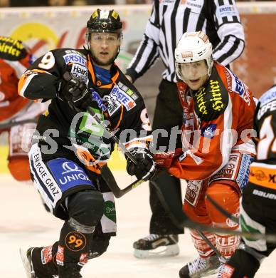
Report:
M276 234L276 85L259 99L254 120L257 156L240 206L243 232ZM243 237L221 278L252 278L276 244Z

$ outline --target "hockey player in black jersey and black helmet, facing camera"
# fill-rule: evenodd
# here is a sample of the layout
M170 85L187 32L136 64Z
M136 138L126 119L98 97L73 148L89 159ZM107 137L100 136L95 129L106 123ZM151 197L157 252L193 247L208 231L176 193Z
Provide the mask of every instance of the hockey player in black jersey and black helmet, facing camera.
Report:
M129 175L149 180L155 172L144 101L114 63L122 41L117 12L94 11L86 39L87 49L57 49L38 58L18 84L25 98L51 100L38 121L29 161L35 187L64 220L53 245L21 250L28 277L82 277L87 259L105 252L115 235L114 197L101 175L114 143L90 109L136 158L137 165L127 160Z

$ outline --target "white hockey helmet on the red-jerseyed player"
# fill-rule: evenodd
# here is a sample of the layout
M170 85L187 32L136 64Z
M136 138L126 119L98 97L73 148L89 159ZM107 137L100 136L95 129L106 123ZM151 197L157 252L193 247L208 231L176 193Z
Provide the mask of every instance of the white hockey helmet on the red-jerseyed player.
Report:
M181 63L193 63L206 60L208 76L211 75L213 67L212 43L203 31L184 33L174 51L176 59L176 75L185 81L182 76Z

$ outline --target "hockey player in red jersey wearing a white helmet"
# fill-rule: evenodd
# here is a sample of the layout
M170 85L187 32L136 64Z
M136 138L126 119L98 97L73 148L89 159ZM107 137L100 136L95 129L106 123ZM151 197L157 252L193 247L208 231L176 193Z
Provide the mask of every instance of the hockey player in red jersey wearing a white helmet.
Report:
M250 138L255 103L238 76L213 61L212 44L202 31L185 33L176 50L179 98L184 109L183 147L156 155L156 163L171 175L187 180L183 210L191 220L213 227L238 229L206 199L209 195L231 215L238 216L239 198L248 182L255 154ZM228 259L240 238L205 233ZM218 256L191 230L199 257L179 272L181 278L203 277L218 271Z

